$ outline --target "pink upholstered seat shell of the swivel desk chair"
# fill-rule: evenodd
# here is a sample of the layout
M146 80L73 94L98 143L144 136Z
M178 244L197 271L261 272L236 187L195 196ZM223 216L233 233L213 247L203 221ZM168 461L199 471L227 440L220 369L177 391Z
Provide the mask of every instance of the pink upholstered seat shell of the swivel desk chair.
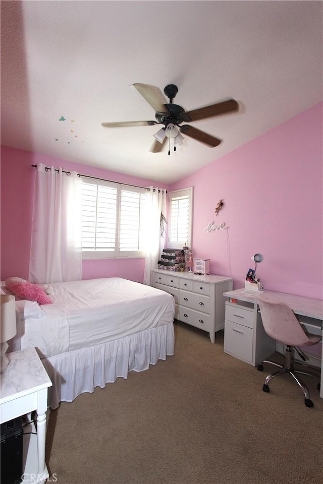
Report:
M264 330L273 339L289 346L313 344L293 311L284 302L268 301L259 296L258 304Z

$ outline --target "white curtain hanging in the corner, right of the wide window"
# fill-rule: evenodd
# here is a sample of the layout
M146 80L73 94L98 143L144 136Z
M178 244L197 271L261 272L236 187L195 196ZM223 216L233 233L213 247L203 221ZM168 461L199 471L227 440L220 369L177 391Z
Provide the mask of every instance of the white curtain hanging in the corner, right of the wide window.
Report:
M160 235L160 215L166 215L166 190L149 187L147 236L145 244L145 270L143 283L150 285L152 269L157 269L157 262L165 247L165 234Z

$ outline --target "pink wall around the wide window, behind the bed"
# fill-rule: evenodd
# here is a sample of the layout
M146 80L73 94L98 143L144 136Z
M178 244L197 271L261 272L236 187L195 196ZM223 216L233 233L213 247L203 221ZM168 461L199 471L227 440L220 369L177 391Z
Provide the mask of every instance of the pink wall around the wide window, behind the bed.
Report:
M62 166L85 175L119 181L138 186L163 186L155 181L127 176L112 171L91 168L78 163L59 160L37 153L1 147L1 280L11 276L28 278L32 220L32 198L35 168L42 162L48 166ZM82 278L124 277L142 282L144 259L85 260Z

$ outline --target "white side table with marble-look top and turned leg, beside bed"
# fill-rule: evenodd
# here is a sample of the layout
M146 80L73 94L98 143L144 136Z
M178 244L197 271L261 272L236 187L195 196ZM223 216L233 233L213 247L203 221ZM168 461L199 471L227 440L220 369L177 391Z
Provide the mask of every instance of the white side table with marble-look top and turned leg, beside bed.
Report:
M23 484L48 478L45 465L47 388L52 385L35 348L7 354L9 364L1 375L1 423L37 412L37 435L23 437ZM27 426L35 432L34 424ZM26 428L25 428L26 429Z

